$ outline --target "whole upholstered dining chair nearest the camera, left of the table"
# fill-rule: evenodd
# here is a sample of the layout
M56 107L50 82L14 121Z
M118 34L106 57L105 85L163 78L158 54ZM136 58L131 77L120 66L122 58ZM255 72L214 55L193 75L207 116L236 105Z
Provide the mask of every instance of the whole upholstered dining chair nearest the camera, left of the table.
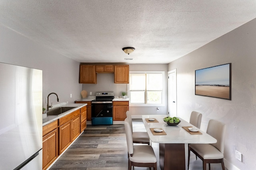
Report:
M126 142L128 147L128 170L132 166L153 167L156 170L156 155L150 145L133 145L132 128L128 118L124 120L124 128L126 133Z

